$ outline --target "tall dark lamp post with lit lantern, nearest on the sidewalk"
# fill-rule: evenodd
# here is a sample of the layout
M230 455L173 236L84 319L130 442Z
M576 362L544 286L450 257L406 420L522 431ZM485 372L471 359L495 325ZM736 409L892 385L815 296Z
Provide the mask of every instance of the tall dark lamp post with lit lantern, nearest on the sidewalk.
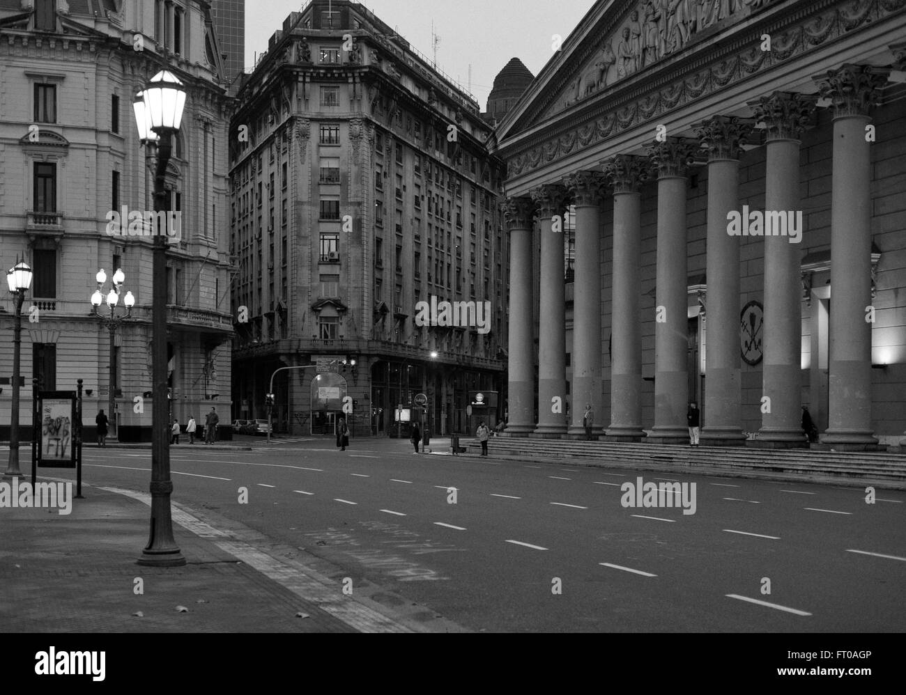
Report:
M186 90L169 71L159 71L136 97L132 106L139 138L150 145L155 136L157 161L154 174L154 212L166 210L164 189L167 164L174 134L182 123ZM168 215L169 217L169 215ZM155 225L156 226L156 225ZM166 225L165 225L166 226ZM151 303L151 528L148 546L141 552L140 565L173 567L186 564L173 538L170 493L173 482L169 471L169 398L167 386L167 236L165 229L154 229L154 283Z

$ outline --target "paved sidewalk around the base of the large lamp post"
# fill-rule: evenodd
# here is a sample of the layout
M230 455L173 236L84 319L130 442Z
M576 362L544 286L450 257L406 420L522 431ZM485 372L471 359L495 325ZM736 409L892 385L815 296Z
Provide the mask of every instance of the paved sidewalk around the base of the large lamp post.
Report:
M174 534L188 565L137 565L149 532L149 507L137 498L148 496L111 490L86 486L86 499L72 500L69 515L57 509L0 508L0 631L431 629L419 614L391 618L388 611L376 610L380 606L369 601L364 587L354 601L342 595L340 578L327 576L331 567L299 548L273 547L239 525L214 528L176 505ZM143 582L141 595L134 593L137 578ZM178 612L177 606L188 612Z

